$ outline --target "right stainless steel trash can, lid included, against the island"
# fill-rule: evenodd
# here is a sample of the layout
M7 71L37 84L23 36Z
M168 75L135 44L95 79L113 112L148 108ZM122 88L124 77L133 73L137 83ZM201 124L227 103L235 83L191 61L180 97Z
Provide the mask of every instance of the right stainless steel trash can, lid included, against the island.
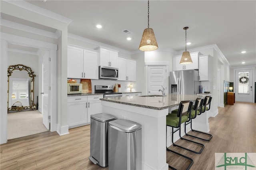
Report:
M108 123L108 170L141 170L142 127L123 119Z

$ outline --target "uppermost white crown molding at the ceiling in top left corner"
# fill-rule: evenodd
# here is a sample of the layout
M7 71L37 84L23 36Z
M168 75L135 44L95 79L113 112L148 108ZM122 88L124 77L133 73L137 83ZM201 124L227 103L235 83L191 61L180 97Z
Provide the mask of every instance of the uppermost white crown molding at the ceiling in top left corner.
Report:
M51 12L49 10L46 10L44 8L41 8L39 6L30 4L28 2L25 2L24 0L1 0L4 2L7 2L9 4L18 6L20 8L24 8L25 10L29 10L31 12L35 12L37 14L40 14L42 16L46 16L48 18L52 18L54 20L63 22L64 24L70 24L70 22L72 22L72 20L70 18L64 17L62 15L56 14L54 12Z

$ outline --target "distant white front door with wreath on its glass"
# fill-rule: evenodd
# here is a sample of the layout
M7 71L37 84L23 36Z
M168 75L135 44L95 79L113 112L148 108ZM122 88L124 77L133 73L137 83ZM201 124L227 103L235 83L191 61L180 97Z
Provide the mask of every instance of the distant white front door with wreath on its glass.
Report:
M253 87L252 87L252 69L236 70L236 101L252 102Z

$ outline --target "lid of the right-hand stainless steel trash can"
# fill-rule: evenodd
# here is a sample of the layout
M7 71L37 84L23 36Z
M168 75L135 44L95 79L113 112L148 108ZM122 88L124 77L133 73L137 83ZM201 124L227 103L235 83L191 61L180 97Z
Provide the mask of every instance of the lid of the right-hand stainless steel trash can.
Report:
M116 129L122 132L134 132L141 129L141 125L124 119L117 119L108 123L109 126L116 127Z

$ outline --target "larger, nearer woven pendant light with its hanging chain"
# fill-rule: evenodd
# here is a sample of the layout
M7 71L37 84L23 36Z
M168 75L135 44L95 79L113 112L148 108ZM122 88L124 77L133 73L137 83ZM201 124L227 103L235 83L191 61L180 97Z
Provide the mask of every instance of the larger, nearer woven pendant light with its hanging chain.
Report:
M152 28L149 28L149 0L148 0L148 28L142 34L139 49L141 51L154 51L158 49L156 37Z

